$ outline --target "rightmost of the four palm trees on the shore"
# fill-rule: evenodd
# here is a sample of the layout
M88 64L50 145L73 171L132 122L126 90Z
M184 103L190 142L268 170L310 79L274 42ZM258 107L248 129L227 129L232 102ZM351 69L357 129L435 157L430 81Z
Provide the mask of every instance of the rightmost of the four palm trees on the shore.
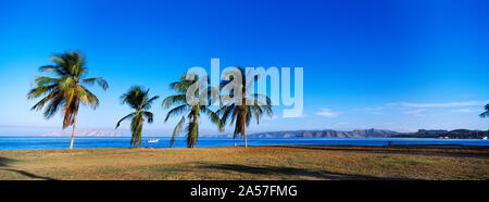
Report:
M231 90L229 96L231 96L233 98L227 101L224 101L217 113L222 114L221 119L223 124L226 124L226 122L229 118L231 118L229 124L230 125L235 124L235 131L233 138L236 138L238 134L240 134L241 138L244 138L244 148L248 148L246 128L250 125L250 122L253 116L256 119L256 124L260 124L260 118L262 117L263 113L268 114L269 117L273 116L272 101L265 94L248 93L247 77L244 76L244 70L241 67L237 67L235 68L235 71L238 71L238 74L240 74L242 78L240 86L241 94L236 94L234 90ZM223 80L221 86L229 84L230 81L233 81L233 79ZM252 80L249 80L248 85L251 85L251 83L253 83L254 79L258 79L258 76L255 76Z

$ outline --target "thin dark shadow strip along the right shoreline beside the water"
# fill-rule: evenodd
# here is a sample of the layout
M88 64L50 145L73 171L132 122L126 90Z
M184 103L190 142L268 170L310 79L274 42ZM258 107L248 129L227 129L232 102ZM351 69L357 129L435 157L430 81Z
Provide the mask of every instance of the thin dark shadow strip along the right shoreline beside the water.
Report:
M326 151L350 151L365 153L388 153L388 154L417 154L417 155L439 155L439 156L459 156L459 157L487 157L488 147L467 147L467 148L435 148L423 146L393 146L393 147L375 147L375 146L269 146L274 148L304 149L304 150L326 150ZM416 149L428 149L427 151L416 151ZM435 149L435 150L429 150ZM476 150L479 153L448 152L443 149L457 150Z

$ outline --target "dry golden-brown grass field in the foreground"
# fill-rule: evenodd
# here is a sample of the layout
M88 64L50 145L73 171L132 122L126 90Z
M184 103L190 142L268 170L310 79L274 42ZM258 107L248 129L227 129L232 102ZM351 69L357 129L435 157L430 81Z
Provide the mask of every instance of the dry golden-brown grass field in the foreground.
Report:
M0 179L489 179L489 149L0 150Z

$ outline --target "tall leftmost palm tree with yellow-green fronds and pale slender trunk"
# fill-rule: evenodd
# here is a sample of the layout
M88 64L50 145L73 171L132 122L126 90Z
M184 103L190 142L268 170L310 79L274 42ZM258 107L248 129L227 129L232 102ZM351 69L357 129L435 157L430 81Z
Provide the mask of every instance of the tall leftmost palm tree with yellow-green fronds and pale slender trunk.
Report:
M54 54L50 60L54 64L41 66L39 72L51 73L55 77L37 76L34 79L34 88L27 93L27 99L36 99L47 94L30 109L39 111L48 103L43 113L46 118L52 117L58 110L62 109L63 129L73 126L70 141L70 149L73 149L79 103L89 105L93 110L99 105L97 96L84 85L97 83L103 90L108 89L109 85L102 78L85 78L87 76L87 61L79 52Z

